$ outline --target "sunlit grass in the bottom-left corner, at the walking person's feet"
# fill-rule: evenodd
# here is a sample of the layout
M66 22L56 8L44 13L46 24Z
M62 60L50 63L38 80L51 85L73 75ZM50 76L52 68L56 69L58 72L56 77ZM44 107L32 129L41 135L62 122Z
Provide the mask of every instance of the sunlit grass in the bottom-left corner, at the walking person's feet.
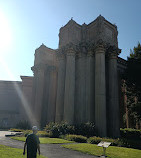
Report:
M8 146L0 145L0 158L26 158L23 155L23 149L11 148ZM37 156L39 158L39 155ZM45 156L40 156L40 158L46 158Z

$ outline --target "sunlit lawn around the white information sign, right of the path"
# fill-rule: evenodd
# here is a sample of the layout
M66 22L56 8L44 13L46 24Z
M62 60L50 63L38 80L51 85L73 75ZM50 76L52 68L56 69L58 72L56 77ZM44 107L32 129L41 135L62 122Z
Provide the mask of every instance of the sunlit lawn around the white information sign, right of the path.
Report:
M102 147L98 147L94 144L82 143L62 146L68 149L81 151L83 153L88 153L95 156L101 156L103 154ZM109 158L141 158L141 150L110 146L106 149L106 155Z

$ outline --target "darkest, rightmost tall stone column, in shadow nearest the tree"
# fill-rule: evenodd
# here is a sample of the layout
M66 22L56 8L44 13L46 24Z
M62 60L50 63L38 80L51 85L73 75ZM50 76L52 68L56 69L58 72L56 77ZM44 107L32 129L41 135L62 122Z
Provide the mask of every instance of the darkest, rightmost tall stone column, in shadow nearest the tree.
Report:
M118 49L110 49L108 52L109 87L108 87L108 135L119 137L119 96L117 74Z

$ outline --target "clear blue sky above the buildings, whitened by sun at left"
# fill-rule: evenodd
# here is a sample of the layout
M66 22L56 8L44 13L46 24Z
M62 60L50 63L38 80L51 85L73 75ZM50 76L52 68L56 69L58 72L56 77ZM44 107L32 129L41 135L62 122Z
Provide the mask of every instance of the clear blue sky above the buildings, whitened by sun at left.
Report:
M120 57L141 42L140 0L0 0L0 80L32 76L42 43L58 48L59 29L71 17L89 24L100 14L118 27Z

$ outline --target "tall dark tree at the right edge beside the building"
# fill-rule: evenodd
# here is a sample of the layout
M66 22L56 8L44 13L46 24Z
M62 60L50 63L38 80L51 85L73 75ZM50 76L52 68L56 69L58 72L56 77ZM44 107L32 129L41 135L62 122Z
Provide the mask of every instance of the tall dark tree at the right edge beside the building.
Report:
M141 44L138 43L130 51L127 59L127 69L124 79L126 80L126 107L128 109L128 117L130 118L130 126L141 125ZM126 114L125 114L126 115ZM133 127L132 126L132 127Z

